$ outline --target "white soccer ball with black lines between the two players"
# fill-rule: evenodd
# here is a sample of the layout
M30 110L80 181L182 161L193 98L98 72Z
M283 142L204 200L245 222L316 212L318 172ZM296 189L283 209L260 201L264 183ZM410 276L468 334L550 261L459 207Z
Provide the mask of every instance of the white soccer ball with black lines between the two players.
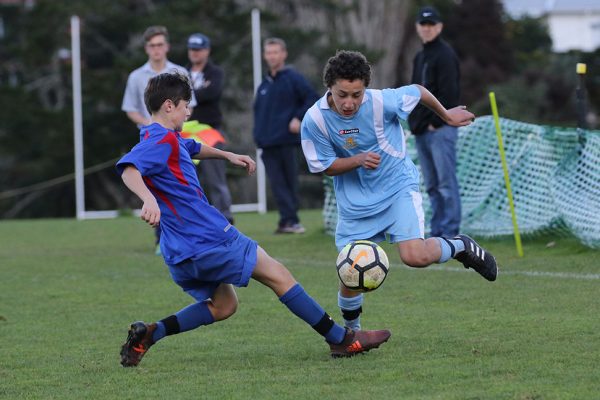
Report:
M385 251L368 240L348 243L340 251L336 263L342 284L357 292L369 292L381 286L389 265Z

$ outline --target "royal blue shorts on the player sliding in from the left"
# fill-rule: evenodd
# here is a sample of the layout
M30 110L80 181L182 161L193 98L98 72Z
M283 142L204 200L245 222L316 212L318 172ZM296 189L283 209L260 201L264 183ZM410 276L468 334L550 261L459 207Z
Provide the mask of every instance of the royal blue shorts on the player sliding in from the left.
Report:
M238 232L232 239L212 249L168 265L171 277L196 301L212 297L221 283L247 286L256 267L256 242Z

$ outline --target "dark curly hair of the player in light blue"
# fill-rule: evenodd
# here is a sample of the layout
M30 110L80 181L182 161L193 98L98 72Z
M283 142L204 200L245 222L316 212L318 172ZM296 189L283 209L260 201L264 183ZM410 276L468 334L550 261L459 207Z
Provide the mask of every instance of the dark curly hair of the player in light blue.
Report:
M323 69L323 84L330 88L338 79L353 81L360 79L365 86L371 83L371 65L358 51L338 50L327 60Z

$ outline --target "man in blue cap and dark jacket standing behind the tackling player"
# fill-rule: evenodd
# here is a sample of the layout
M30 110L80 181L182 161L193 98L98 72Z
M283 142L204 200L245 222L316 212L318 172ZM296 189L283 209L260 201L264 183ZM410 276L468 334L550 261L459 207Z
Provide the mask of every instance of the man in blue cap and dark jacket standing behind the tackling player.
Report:
M192 111L190 120L210 125L221 131L223 115L219 102L223 93L223 69L214 64L210 56L210 39L202 33L194 33L188 38L187 66L197 106ZM223 149L224 142L210 144ZM233 224L231 214L231 193L227 186L226 161L209 159L200 163L200 181L206 189L210 203L216 207Z

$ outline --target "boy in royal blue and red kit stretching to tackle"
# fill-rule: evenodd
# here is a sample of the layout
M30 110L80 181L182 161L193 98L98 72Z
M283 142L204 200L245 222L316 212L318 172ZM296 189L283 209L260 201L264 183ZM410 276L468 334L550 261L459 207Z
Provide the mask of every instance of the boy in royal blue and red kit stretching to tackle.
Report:
M237 308L233 286L250 278L271 288L290 311L325 337L333 357L348 357L379 347L387 330L358 331L336 324L291 273L256 242L233 227L206 200L192 158L228 160L254 173L246 155L183 139L191 86L183 74L150 79L144 101L152 123L141 127L140 142L117 162L125 185L142 201L141 218L159 226L160 246L175 283L196 302L158 322L131 324L121 348L121 364L139 364L157 341L230 317Z

